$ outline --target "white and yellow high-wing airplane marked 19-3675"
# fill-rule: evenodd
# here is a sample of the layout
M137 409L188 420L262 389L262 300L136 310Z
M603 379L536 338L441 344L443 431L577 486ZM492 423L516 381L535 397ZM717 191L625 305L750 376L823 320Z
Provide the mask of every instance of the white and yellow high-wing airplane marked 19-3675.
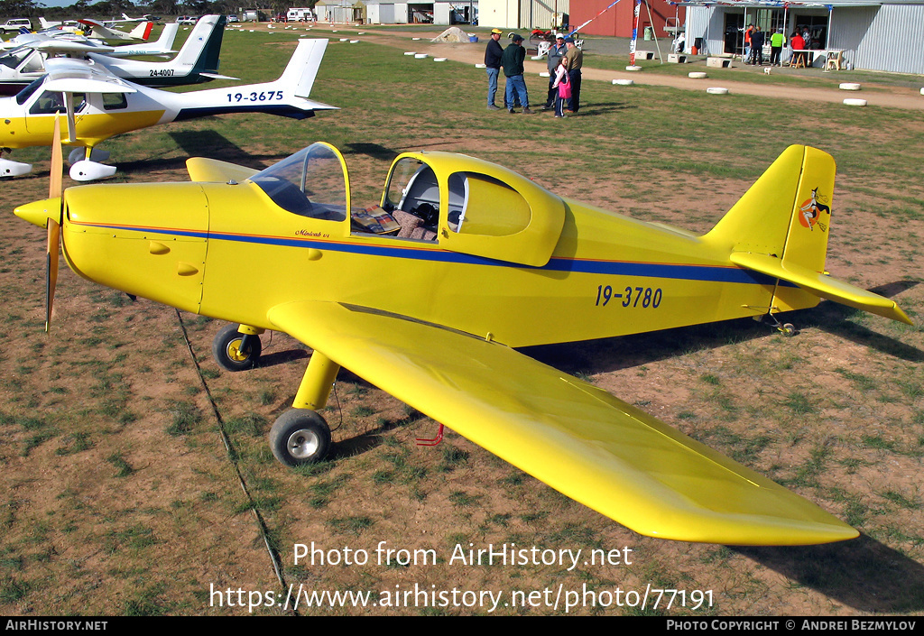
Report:
M51 145L55 114L60 113L67 116L65 143L85 149L71 153L70 176L89 181L116 172L116 166L98 163L104 158L93 148L129 130L224 113L314 116L317 110L336 108L308 99L326 46L326 40L299 40L275 81L182 93L117 78L93 60L52 58L46 61L46 75L15 97L0 97L0 153ZM0 177L28 174L31 169L30 164L0 157Z

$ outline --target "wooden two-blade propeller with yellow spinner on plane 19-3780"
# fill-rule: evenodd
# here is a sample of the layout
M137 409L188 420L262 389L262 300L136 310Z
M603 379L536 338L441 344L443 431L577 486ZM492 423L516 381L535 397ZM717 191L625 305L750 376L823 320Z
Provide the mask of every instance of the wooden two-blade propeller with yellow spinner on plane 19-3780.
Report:
M57 285L58 251L61 244L61 222L64 214L64 153L61 150L61 122L55 117L54 143L52 144L52 168L48 199L20 205L15 213L30 223L46 227L48 245L45 254L45 332L51 328L52 306L55 302Z

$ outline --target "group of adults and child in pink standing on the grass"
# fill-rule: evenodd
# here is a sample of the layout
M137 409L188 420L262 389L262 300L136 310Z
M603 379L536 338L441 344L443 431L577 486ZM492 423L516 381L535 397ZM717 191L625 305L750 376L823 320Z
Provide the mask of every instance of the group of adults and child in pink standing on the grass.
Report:
M500 110L494 104L497 93L497 79L501 68L506 79L504 106L511 115L522 106L524 115L531 115L529 109L529 92L523 79L523 64L526 60L526 48L523 36L510 34L510 44L501 46L503 31L492 29L491 40L484 52L484 66L488 72L488 110ZM555 33L555 42L549 48L547 66L549 68L549 92L542 110L555 110L556 117L577 113L580 109L581 67L584 54L575 44L574 38L566 38L563 33Z

